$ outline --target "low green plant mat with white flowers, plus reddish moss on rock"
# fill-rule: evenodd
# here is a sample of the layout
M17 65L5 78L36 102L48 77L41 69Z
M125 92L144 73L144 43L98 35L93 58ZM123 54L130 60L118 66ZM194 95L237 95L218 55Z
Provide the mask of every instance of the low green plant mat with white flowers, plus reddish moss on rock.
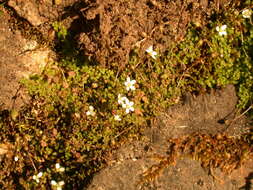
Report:
M0 115L3 168L0 188L84 187L106 164L107 153L122 143L141 139L142 130L188 92L204 93L234 84L238 108L250 110L253 101L251 6L251 1L245 1L239 8L212 13L204 25L190 23L183 40L172 43L164 52L155 44L144 52L133 48L123 69L118 69L119 63L105 66L68 55L49 63L41 74L23 79L21 83L31 97L30 105L19 111L5 110ZM64 27L59 23L53 27L60 44L70 48ZM65 51L69 49L63 48ZM222 148L232 154L233 148L238 150L244 144L239 164L253 152L252 132L242 140L201 135L192 138L228 142L229 146L210 148L192 140L197 148L190 154L206 167L230 171L222 166L227 166L227 162L238 163L233 156L215 162L208 153L216 148L217 152ZM177 145L180 150L193 146L181 141ZM165 158L165 166L170 164L171 157Z

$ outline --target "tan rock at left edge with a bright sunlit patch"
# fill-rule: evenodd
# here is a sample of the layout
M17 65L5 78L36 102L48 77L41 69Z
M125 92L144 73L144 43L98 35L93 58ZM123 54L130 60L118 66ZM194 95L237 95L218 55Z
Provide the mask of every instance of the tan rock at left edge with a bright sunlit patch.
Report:
M40 72L50 61L53 52L27 40L18 30L12 30L10 15L3 10L0 17L0 109L19 108L26 102L19 80L29 74Z

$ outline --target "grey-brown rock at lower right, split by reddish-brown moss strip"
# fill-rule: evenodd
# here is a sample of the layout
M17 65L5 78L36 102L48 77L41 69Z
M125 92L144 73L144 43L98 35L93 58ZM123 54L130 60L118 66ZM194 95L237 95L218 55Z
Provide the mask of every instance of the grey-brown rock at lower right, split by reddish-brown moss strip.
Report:
M155 127L146 129L145 141L117 150L109 166L93 178L88 190L238 190L245 186L252 175L252 160L228 175L220 169L213 169L210 174L199 161L187 157L176 159L154 181L139 183L142 175L159 163L156 155L168 157L168 139L197 132L237 136L247 131L249 126L244 117L234 120L236 101L231 85L211 94L187 97L184 103L162 114ZM222 119L227 122L219 123Z

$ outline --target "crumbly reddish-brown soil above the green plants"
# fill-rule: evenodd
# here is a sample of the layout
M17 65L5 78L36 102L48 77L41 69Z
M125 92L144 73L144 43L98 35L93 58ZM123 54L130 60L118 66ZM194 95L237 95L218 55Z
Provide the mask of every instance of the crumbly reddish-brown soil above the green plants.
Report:
M201 26L213 10L228 6L231 1L96 0L80 9L89 27L79 43L85 55L122 69L133 49L141 59L150 45L163 54L184 38L189 23Z

